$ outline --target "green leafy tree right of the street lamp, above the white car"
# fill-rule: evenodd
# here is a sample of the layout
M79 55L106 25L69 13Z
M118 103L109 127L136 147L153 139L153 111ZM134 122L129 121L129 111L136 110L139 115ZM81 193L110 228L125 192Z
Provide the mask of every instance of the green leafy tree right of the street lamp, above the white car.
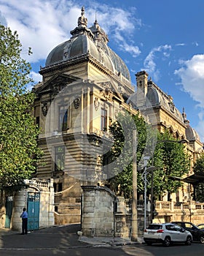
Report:
M171 141L170 141L171 140ZM176 143L168 130L158 133L158 140L154 150L154 197L177 192L181 187L179 178L189 172L189 159L184 151L184 145Z

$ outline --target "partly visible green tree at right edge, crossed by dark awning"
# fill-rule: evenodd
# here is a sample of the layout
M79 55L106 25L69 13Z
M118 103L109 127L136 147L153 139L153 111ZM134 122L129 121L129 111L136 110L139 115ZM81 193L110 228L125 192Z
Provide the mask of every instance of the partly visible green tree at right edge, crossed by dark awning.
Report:
M193 168L194 173L200 176L204 176L204 154L200 154L200 157L195 162ZM204 183L200 182L196 187L196 200L204 202Z

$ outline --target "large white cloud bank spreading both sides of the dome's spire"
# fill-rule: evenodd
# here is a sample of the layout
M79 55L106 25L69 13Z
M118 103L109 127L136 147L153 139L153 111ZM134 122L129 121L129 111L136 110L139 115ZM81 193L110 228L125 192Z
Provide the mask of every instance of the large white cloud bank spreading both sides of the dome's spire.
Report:
M91 8L90 6L94 7ZM1 20L7 22L12 31L16 30L22 42L23 48L31 47L33 54L23 56L30 63L47 58L50 50L60 42L71 37L70 31L77 26L77 18L81 15L81 1L71 0L1 0ZM97 20L102 23L103 29L111 36L117 34L119 45L123 50L137 56L140 52L137 46L128 45L125 40L127 29L134 30L135 25L141 23L136 20L134 10L122 10L93 1L87 1L85 15L88 18L88 25L92 26ZM130 33L131 34L131 33ZM26 50L25 50L26 53Z

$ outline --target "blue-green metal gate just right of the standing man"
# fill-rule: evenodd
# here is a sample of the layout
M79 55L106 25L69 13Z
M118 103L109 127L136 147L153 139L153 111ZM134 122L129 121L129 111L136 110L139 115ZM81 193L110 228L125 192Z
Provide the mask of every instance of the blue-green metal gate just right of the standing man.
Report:
M39 192L28 192L28 230L39 229Z

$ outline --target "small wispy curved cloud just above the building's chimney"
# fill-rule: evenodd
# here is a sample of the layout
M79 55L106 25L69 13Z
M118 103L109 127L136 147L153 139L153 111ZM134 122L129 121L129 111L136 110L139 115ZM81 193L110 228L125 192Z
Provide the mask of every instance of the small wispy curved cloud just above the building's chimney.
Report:
M170 50L170 45L160 45L157 48L153 48L144 60L144 69L146 70L146 72L149 72L149 74L152 75L156 82L160 79L160 70L157 69L157 64L155 61L155 59L157 59L156 54L162 53L163 58L168 58L170 56Z

